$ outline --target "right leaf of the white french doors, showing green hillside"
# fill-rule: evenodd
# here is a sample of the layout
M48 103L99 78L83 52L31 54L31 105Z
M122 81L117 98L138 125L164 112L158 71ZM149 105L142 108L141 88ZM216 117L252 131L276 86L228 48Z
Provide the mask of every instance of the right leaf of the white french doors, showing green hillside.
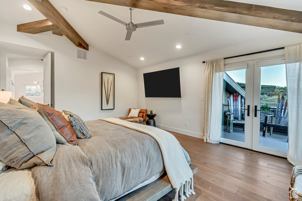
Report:
M287 85L284 60L255 60L254 70L254 117L253 149L287 157L288 118ZM276 64L279 61L279 65ZM278 62L277 62L278 63ZM255 110L257 106L257 111ZM258 111L259 110L259 111ZM255 112L256 116L255 117ZM256 137L257 136L257 137Z

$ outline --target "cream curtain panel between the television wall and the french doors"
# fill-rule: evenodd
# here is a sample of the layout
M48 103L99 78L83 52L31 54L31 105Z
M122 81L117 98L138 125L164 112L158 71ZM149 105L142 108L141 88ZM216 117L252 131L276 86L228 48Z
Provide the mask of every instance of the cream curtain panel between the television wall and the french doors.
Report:
M219 143L222 122L223 59L206 61L204 69L204 141Z

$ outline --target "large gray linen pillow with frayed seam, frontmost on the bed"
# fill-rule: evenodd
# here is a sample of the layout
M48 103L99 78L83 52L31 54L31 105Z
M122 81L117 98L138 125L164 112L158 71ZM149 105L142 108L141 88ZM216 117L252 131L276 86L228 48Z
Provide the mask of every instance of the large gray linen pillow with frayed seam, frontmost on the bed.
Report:
M0 103L0 161L17 168L53 165L56 139L41 115Z

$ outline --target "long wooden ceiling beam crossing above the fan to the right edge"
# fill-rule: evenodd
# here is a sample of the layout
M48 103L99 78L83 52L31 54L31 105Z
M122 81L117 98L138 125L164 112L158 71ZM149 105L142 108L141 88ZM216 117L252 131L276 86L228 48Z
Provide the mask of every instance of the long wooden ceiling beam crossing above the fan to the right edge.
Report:
M86 0L302 33L302 12L224 0Z

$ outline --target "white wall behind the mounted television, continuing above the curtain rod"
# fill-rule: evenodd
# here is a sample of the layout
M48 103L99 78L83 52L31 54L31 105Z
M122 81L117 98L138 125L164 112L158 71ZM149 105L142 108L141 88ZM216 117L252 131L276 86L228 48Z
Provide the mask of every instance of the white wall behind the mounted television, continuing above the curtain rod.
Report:
M224 49L215 50L187 58L165 62L138 69L138 108L153 109L159 128L202 137L203 81L202 61L259 52L302 42L302 34L287 37L287 33L262 40L248 42ZM180 68L182 98L145 98L143 73L169 68ZM185 126L188 122L188 127Z

